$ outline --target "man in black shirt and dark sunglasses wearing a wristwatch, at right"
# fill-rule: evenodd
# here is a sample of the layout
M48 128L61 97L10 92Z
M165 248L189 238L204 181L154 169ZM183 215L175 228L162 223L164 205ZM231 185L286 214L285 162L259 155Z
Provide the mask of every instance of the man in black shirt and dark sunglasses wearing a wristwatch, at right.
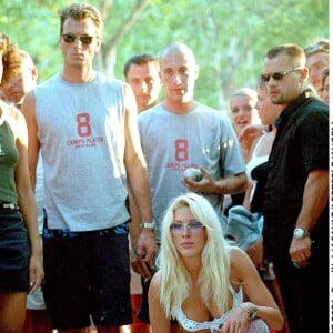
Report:
M269 159L264 256L274 264L292 333L329 323L329 107L307 89L307 77L297 46L266 52L262 80L284 109Z

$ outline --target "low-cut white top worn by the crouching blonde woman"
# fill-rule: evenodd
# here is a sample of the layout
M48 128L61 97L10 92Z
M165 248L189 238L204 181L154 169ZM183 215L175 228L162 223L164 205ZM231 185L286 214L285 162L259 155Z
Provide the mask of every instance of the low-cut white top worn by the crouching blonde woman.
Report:
M228 312L225 312L221 317L215 317L212 321L195 322L193 320L188 319L183 313L182 307L179 306L175 313L175 319L178 320L179 324L189 332L196 332L200 330L210 330L212 333L219 332L219 327L229 319L233 309L238 307L243 302L242 287L240 287L239 292L235 292L232 285L229 285L229 290L233 297L233 304L232 307Z

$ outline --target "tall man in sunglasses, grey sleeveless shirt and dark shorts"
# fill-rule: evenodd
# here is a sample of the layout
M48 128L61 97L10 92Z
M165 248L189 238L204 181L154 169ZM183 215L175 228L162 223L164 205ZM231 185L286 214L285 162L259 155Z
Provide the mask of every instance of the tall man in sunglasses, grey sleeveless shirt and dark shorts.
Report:
M83 332L90 319L110 333L132 322L128 184L140 222L153 225L133 92L92 68L102 26L93 6L61 11L62 72L22 107L32 182L39 150L44 168L43 295L59 332ZM135 250L142 265L152 265L152 229L140 230Z

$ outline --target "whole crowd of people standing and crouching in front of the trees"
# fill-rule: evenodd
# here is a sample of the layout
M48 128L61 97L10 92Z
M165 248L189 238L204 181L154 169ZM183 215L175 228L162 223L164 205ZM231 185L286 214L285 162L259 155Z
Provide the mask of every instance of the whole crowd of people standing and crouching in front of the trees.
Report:
M102 33L94 6L64 7L39 84L0 33L0 333L329 324L329 41L269 49L226 114L195 99L188 44L117 80L93 68Z

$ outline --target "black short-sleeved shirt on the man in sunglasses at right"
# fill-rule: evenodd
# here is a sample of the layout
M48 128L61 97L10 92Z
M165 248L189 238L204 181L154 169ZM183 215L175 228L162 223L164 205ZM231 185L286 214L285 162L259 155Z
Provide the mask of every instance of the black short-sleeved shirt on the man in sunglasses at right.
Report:
M312 170L329 169L329 105L305 90L276 120L264 195L264 255L289 259L289 248ZM329 186L329 184L327 184ZM327 241L329 203L311 238Z

